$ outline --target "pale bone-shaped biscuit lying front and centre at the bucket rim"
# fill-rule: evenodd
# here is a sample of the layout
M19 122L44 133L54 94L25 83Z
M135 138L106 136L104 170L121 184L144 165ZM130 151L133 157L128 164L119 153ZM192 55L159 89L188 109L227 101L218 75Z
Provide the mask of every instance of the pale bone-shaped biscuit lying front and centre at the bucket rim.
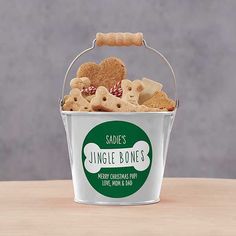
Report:
M94 111L133 112L136 110L135 105L113 96L103 86L98 87L90 104Z

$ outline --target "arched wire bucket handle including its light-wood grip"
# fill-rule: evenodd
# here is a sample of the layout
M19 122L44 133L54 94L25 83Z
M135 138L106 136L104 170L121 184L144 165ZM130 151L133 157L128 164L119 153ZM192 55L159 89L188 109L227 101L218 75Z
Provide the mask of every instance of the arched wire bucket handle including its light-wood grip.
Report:
M105 45L106 46L144 46L148 50L156 53L167 64L167 66L169 67L169 69L171 71L173 84L174 84L174 100L176 102L176 108L179 107L179 100L178 100L178 96L177 96L176 77L175 77L174 70L173 70L171 64L169 63L169 61L166 59L166 57L161 52L157 51L156 49L150 47L147 44L147 42L143 38L142 33L135 33L135 34L132 34L132 33L107 33L107 34L97 33L96 38L92 42L92 46L90 48L85 49L80 54L78 54L74 58L74 60L70 63L69 67L67 68L67 71L66 71L66 74L64 77L64 81L63 81L62 92L61 92L61 94L62 94L61 105L63 105L66 80L67 80L68 74L69 74L72 66L82 55L93 50L95 48L95 45L97 45L97 46L105 46Z

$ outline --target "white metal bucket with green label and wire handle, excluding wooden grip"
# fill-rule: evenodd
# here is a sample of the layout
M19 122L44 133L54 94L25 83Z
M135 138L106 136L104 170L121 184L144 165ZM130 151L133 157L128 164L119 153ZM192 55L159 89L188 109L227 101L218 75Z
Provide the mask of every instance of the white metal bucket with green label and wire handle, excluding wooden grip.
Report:
M169 66L166 58L155 49ZM74 62L70 64L65 82ZM177 94L175 95L176 104ZM105 205L149 204L160 200L170 133L177 106L169 112L70 112L62 111L74 200Z

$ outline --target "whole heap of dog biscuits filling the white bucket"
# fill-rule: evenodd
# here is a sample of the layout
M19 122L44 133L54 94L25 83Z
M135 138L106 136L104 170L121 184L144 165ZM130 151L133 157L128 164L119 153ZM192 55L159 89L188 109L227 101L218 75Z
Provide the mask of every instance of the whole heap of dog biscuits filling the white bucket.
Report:
M64 111L166 112L175 109L175 101L162 91L163 85L151 79L126 79L126 67L116 57L100 64L82 64L72 88L64 97Z

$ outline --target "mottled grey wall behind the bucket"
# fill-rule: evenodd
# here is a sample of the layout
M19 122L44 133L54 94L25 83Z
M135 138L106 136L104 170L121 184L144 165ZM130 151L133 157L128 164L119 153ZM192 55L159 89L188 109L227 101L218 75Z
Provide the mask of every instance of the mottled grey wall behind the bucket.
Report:
M166 176L236 178L235 10L235 0L1 0L0 180L70 178L58 99L69 61L98 31L143 32L176 71Z

